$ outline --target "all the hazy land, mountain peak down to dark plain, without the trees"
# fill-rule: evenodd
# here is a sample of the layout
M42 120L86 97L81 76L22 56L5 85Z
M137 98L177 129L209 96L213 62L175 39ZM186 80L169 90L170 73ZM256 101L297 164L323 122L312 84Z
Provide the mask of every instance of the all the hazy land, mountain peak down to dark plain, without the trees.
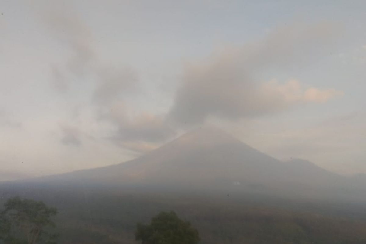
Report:
M352 198L362 182L203 128L121 164L4 183L0 202L20 195L57 207L65 244L136 243L137 222L170 210L202 243L361 244L366 211Z

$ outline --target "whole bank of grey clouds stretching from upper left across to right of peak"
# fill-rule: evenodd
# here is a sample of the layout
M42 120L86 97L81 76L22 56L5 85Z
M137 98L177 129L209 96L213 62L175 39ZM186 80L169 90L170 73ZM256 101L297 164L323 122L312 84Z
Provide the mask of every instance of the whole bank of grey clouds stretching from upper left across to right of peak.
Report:
M52 35L70 53L65 64L51 65L56 88L64 93L79 78L92 82L90 106L96 120L102 118L111 125L107 138L130 150L150 150L172 138L177 130L210 118L235 121L275 114L343 94L335 89L307 87L296 79L261 80L260 74L268 70L286 70L320 55L339 34L339 29L330 23L297 23L277 28L264 38L241 46L225 46L184 67L173 106L166 113L132 112L133 106L126 106L131 105L127 97L139 94L142 89L137 86L137 73L101 61L93 44L93 33L71 9L61 5L45 19ZM80 129L67 126L60 129L63 144L81 145L77 135Z

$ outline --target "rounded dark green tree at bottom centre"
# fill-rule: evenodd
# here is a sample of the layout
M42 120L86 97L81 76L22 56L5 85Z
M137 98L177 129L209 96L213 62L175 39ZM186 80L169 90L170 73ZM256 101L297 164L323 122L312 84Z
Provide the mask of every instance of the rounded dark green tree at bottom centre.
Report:
M198 231L173 211L156 215L150 225L137 224L135 238L142 244L197 244L199 241Z

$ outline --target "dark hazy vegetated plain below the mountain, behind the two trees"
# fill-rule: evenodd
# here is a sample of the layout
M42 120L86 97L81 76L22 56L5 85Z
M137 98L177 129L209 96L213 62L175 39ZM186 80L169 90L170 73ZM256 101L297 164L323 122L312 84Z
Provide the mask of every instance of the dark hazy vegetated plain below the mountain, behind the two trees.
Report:
M19 192L18 192L19 193ZM175 211L197 228L202 244L364 244L362 206L234 193L20 191L59 210L59 243L138 243L136 223ZM6 195L6 194L5 194ZM3 195L4 196L4 195Z

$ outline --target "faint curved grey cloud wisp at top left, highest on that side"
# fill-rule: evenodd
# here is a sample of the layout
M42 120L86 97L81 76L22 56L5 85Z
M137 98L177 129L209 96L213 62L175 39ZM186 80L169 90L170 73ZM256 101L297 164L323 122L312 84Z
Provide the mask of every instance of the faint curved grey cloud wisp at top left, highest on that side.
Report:
M42 22L52 37L70 53L66 63L51 64L52 85L57 91L65 93L70 89L71 80L75 80L73 76L80 78L90 72L90 65L96 57L92 34L66 3L46 6L42 5L39 11Z

